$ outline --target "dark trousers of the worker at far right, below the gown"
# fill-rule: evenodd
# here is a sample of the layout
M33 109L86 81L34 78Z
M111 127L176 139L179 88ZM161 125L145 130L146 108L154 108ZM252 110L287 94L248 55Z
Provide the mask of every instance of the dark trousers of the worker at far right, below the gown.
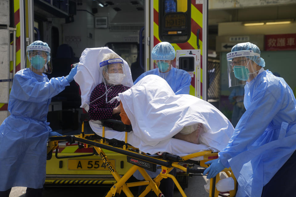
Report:
M296 151L263 187L261 197L295 196Z

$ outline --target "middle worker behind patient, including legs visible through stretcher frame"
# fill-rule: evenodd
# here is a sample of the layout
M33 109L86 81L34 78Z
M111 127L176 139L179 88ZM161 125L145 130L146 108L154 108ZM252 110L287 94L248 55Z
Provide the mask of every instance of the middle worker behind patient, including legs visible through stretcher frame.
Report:
M154 60L154 64L158 67L152 70L149 70L143 74L141 74L134 84L136 84L138 81L140 81L143 77L149 74L155 74L167 81L167 83L170 85L172 90L175 92L175 94L189 94L189 87L191 84L191 77L189 73L185 70L177 69L172 66L173 60L175 59L175 49L169 42L160 42L157 45L155 45L151 51L151 57ZM158 169L156 172L146 171L151 178L155 178L159 173L161 169ZM173 169L170 174L176 175L176 169ZM139 171L136 171L134 173L134 177L136 179L142 180L143 177L140 174ZM139 192L141 192L143 189L145 189L146 186L139 187ZM166 197L172 197L174 193L174 182L172 179L162 179L160 182L160 191L166 196ZM151 194L150 196L154 196Z

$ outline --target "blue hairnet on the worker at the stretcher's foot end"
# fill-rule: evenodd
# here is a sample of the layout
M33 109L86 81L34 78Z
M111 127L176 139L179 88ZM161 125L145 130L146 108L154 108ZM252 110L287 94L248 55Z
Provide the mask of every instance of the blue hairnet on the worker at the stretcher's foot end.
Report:
M236 44L235 46L232 47L231 52L240 51L240 50L253 50L254 53L260 54L259 47L252 44L251 42L238 43L238 44ZM265 61L261 57L249 56L249 59L253 60L259 66L262 66L262 67L265 66Z

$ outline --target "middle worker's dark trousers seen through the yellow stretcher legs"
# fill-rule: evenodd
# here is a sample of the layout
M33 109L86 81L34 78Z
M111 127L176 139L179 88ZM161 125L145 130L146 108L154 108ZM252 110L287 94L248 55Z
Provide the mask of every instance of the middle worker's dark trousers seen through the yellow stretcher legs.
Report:
M177 174L176 168L171 170L169 174L176 176L176 174ZM165 197L173 197L174 186L175 186L175 183L174 183L173 179L167 178L167 179L162 179L160 181L159 189ZM142 191L145 190L146 187L147 187L146 185L139 186L138 193L140 194ZM155 196L154 191L150 191L146 195L146 197L154 197L154 196Z

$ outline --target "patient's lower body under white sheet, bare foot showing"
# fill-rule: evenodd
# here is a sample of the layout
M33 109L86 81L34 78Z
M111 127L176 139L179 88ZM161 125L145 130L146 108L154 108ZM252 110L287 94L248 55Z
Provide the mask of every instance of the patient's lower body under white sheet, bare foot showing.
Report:
M218 109L191 95L175 95L157 75L145 76L119 93L119 99L123 123L131 123L143 145L174 137L220 150L233 134L232 124Z

